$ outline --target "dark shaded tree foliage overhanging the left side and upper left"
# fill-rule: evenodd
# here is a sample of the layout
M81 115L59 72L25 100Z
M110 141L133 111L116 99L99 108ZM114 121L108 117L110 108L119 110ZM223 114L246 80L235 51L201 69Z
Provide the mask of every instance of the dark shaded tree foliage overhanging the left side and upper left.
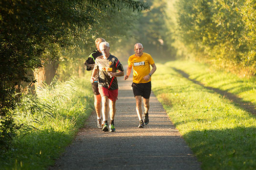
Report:
M88 33L98 18L116 9L127 7L141 11L148 6L125 1L32 1L3 0L0 2L0 100L1 151L10 140L15 126L8 117L15 105L15 85L29 80L31 69L42 66L50 57L58 60L63 51L87 44ZM9 142L8 142L9 143Z

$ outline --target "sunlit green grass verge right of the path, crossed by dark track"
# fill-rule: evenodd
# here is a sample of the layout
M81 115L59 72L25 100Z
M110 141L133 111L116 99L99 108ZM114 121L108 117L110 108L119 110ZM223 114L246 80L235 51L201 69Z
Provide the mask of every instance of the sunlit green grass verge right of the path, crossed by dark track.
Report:
M255 79L195 62L156 63L154 94L203 169L256 169ZM233 100L225 93L234 94ZM251 109L250 111L255 111Z

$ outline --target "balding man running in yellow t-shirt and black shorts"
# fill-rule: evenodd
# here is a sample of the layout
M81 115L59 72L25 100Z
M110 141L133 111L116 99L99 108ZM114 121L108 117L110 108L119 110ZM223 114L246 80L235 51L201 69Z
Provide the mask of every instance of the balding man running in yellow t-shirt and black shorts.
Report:
M129 57L128 67L124 80L128 79L133 68L133 93L136 99L136 112L139 118L138 128L144 128L148 124L148 110L150 109L151 94L151 76L157 67L150 54L143 53L143 45L136 43L134 45L135 54ZM150 68L152 66L152 69ZM143 97L144 104L144 122L142 120L141 101Z

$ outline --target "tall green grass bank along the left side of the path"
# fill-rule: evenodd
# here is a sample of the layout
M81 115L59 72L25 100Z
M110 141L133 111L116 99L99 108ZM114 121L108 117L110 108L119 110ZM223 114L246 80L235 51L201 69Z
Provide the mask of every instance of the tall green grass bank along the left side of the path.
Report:
M23 124L0 169L47 169L65 151L93 108L89 75L45 85L26 95L16 108Z

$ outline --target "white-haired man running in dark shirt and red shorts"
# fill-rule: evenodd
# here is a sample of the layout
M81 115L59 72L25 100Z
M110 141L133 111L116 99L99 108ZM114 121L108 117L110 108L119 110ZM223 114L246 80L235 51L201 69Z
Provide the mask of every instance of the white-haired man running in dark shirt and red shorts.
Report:
M99 71L99 93L102 98L102 131L114 132L114 118L116 113L116 100L118 96L118 83L116 77L123 76L123 66L119 60L110 54L110 45L108 42L101 42L100 51L102 56L96 58L91 82L95 81L95 75ZM110 99L110 100L109 100ZM109 103L110 102L110 103ZM110 126L108 127L108 106L110 107Z

